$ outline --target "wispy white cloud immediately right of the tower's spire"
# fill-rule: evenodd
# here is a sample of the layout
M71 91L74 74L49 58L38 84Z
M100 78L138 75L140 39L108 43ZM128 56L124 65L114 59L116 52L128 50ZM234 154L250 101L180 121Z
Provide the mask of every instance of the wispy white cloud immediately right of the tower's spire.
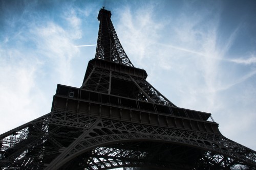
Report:
M119 23L115 28L120 41L125 44L124 50L129 57L134 58L134 62L140 65L142 60L150 58L148 53L155 53L155 42L159 38L158 32L163 28L163 22L153 20L152 4L135 11L126 7L120 9L119 13Z

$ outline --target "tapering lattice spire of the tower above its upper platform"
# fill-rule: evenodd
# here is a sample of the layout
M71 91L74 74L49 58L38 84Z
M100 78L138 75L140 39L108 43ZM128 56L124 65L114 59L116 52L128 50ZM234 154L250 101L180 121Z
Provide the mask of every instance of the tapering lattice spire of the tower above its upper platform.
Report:
M103 9L101 11L110 12ZM123 50L110 17L111 15L101 14L98 18L100 23L95 58L134 67Z

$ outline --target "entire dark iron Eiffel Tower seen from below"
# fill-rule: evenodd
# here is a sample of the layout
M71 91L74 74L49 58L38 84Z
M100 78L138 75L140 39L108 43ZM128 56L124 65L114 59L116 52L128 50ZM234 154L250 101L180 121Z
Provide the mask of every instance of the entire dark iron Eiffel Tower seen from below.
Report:
M100 9L80 88L57 85L51 112L0 135L1 169L256 169L210 113L179 108L134 67Z

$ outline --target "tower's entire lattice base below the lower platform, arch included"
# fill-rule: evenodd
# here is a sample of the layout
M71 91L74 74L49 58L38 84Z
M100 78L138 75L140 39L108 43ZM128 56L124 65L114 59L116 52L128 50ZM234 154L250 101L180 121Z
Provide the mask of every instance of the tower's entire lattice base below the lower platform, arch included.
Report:
M42 169L58 159L64 162L60 169L147 166L166 169L253 169L256 166L254 151L221 134L121 122L62 111L37 118L1 135L0 139L1 167ZM62 152L67 149L67 152Z

